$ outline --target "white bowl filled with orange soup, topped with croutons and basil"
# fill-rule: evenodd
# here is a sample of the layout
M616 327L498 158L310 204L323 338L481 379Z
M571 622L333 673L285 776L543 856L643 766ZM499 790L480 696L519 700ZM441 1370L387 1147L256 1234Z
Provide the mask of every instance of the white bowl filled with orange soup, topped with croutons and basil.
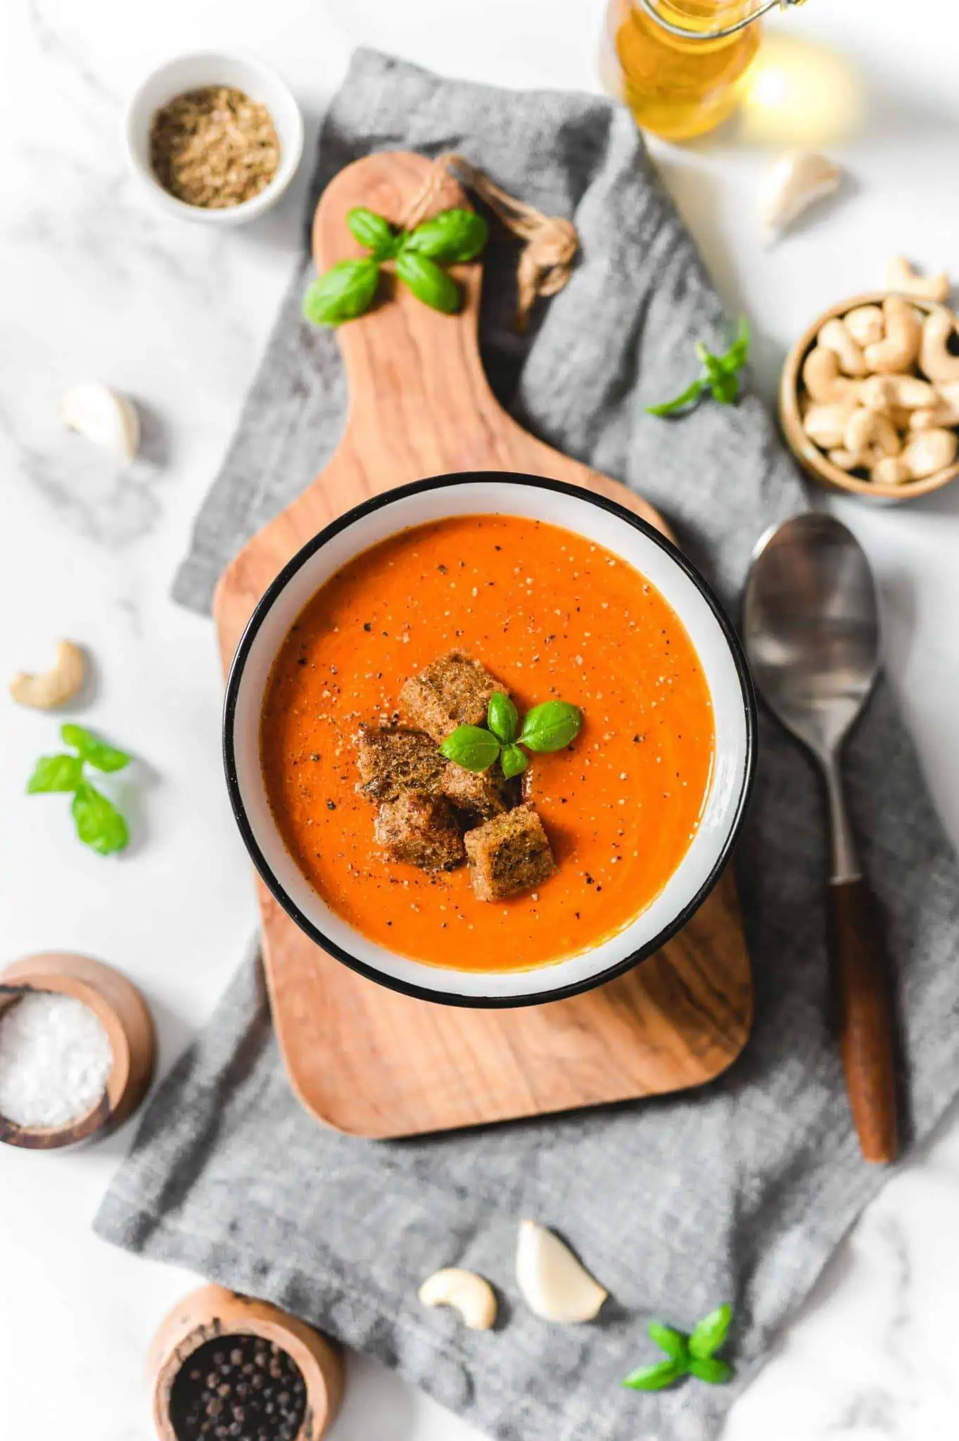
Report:
M481 728L495 689L517 732L547 702L579 731L520 748L508 781L503 754L484 777L451 771L444 715L410 700L438 667L465 670ZM415 757L370 781L363 746L383 736ZM456 474L373 497L289 561L238 646L223 751L246 849L312 941L412 996L521 1006L636 965L708 895L749 800L756 708L719 601L662 535L559 481ZM413 772L454 803L397 795ZM517 808L456 808L484 785ZM419 811L452 846L431 869L396 844ZM501 834L531 826L543 879L501 893Z

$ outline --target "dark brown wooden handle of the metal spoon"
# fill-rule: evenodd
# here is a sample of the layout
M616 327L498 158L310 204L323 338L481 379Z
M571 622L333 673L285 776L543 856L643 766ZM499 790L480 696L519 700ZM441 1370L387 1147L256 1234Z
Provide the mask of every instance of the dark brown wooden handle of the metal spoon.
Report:
M875 902L861 878L829 886L829 950L839 1053L863 1156L867 1161L893 1161L897 1124L891 986Z

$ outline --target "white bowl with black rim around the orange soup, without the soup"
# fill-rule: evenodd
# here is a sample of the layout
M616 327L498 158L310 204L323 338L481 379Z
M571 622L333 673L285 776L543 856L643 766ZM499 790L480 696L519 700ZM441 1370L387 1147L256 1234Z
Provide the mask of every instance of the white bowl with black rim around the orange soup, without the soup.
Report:
M312 595L389 536L449 516L514 514L563 526L639 571L668 601L698 654L713 702L716 749L685 856L625 928L576 955L528 970L454 970L369 940L310 885L276 827L261 767L264 697L284 640ZM284 566L236 647L223 712L226 784L240 834L284 911L323 950L393 990L452 1006L531 1006L600 986L659 950L719 880L743 823L756 767L756 700L736 633L708 585L658 530L605 496L554 480L482 471L436 476L348 510Z

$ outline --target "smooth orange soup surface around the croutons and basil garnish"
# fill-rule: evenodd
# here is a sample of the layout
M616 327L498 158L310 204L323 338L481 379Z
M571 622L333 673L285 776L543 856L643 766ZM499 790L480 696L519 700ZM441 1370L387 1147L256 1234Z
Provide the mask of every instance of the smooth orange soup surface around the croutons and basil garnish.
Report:
M526 772L556 873L505 901L478 899L465 866L387 862L356 788L359 726L402 722L403 682L454 648L520 713L562 699L583 716L570 746L530 755ZM274 817L323 899L382 945L459 970L543 965L628 925L690 846L713 746L703 669L655 586L518 516L433 522L344 566L284 641L261 725Z

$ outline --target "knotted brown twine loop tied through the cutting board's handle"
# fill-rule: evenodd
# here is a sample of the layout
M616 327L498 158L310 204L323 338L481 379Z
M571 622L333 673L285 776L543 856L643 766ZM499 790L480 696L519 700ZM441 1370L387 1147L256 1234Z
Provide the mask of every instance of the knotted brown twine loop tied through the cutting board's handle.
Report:
M423 219L436 200L446 174L469 186L503 220L507 231L526 241L515 277L515 329L526 330L537 295L556 295L570 277L579 249L576 226L562 215L543 215L534 206L517 200L482 170L477 170L465 156L451 150L436 156L422 190L410 202L403 216L408 229Z

